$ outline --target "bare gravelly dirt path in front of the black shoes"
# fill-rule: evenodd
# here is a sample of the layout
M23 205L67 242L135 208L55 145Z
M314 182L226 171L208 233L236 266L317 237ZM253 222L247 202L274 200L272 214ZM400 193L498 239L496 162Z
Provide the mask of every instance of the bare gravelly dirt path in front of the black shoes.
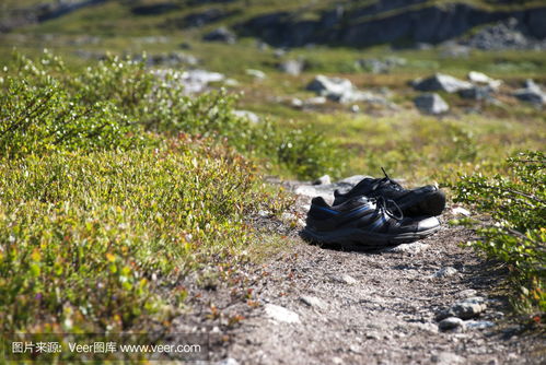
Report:
M234 332L230 357L240 364L539 364L544 348L533 353L539 339L524 342L515 327L439 331L435 314L466 296L487 297L481 321L502 321L507 310L489 294L498 273L457 246L466 235L444 228L414 247L377 254L297 244L264 268L269 274L255 286L264 308ZM457 272L433 276L445 267ZM295 313L299 322L270 318L267 304Z

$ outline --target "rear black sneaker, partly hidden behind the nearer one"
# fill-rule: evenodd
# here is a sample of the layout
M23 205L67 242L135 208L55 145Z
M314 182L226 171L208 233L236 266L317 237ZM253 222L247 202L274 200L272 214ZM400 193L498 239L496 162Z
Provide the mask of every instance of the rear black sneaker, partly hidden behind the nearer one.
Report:
M341 204L348 199L364 196L368 198L383 197L393 200L408 216L440 215L445 208L445 193L432 185L413 190L404 189L398 182L388 177L365 178L346 193L334 191L334 205Z

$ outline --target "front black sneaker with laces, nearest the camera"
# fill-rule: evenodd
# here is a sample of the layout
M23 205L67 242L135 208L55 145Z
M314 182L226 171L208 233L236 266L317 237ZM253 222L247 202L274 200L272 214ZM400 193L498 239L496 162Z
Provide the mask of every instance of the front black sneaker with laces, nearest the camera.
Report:
M392 200L357 197L330 207L313 198L303 238L318 244L377 248L425 238L440 228L437 217L404 217Z

